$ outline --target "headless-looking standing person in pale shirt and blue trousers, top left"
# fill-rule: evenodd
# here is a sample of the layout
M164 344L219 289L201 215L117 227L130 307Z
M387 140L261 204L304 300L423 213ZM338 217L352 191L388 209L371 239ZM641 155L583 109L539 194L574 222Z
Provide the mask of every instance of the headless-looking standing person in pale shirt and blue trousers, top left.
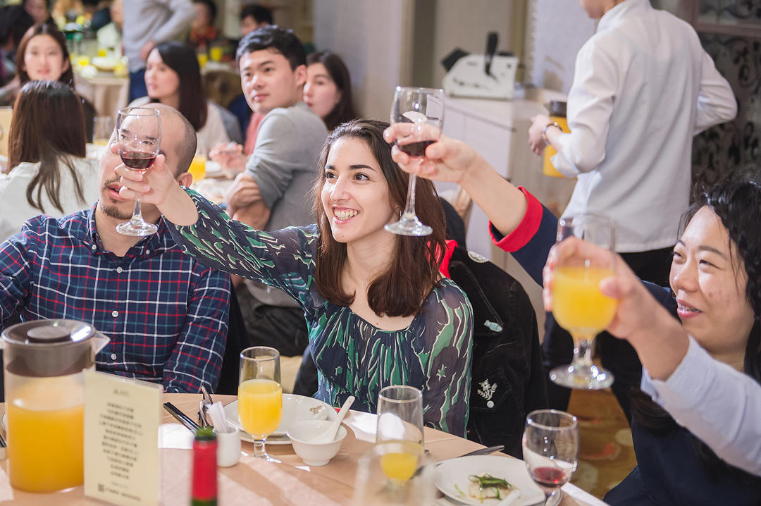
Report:
M190 29L190 0L129 0L124 5L123 46L129 60L129 101L145 97L145 60L156 44Z

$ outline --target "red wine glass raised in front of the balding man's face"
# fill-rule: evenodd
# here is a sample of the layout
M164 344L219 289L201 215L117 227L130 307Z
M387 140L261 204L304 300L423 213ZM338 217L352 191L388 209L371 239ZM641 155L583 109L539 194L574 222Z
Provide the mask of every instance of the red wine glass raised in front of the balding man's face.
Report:
M161 115L151 107L120 109L116 116L116 142L119 157L129 170L145 172L153 164L161 148ZM145 236L155 234L158 227L142 218L140 199L126 223L116 225L120 234Z

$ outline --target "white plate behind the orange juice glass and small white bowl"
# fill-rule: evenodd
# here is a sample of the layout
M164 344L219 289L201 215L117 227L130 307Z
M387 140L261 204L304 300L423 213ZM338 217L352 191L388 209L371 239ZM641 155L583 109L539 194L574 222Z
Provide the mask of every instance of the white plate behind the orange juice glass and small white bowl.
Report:
M244 431L243 425L240 425L237 415L237 400L224 406L224 415L228 418L228 423L240 431L240 439L253 442L251 435ZM285 433L288 432L288 428L291 428L291 424L294 422L325 419L335 420L336 410L321 400L284 393L282 421L278 428L267 437L267 444L291 444L291 440Z

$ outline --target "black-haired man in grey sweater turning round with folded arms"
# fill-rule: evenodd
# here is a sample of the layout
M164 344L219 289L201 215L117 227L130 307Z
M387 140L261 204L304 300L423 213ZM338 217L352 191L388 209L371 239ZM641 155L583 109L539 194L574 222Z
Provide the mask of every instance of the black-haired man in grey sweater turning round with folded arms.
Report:
M228 191L228 213L260 230L314 223L310 189L327 129L302 100L307 77L304 46L291 30L266 26L237 49L246 100L264 114L247 161L219 153L225 167L243 167ZM304 313L288 295L247 281L236 290L250 345L270 345L281 355L301 355L307 345Z

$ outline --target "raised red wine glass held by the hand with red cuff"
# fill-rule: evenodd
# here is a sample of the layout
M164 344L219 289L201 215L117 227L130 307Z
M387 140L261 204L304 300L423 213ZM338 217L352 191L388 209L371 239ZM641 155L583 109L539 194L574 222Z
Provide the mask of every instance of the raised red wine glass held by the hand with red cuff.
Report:
M422 163L425 148L438 140L444 126L444 91L397 86L391 104L391 126L396 146ZM399 221L386 225L387 231L400 235L428 235L433 231L420 222L415 212L416 181L415 174L410 174L404 211Z

